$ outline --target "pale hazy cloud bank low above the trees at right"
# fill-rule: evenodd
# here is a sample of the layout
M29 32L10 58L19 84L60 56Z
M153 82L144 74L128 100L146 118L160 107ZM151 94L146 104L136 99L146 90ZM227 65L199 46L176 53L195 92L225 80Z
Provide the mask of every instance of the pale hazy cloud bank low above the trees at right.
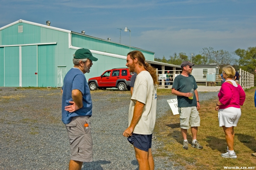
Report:
M151 30L134 37L132 46L155 52L156 57L169 56L174 52L199 53L202 48L232 52L237 48L247 49L256 46L255 29L234 31L205 31L200 29Z

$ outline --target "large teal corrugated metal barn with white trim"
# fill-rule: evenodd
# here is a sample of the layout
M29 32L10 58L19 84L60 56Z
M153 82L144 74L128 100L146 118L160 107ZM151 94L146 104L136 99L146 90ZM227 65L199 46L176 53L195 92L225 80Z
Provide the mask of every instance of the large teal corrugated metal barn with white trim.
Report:
M21 19L1 27L0 86L60 87L79 48L90 49L99 59L86 74L87 80L105 70L125 67L129 52L129 46L120 43ZM155 63L154 52L131 50L141 51L149 63Z

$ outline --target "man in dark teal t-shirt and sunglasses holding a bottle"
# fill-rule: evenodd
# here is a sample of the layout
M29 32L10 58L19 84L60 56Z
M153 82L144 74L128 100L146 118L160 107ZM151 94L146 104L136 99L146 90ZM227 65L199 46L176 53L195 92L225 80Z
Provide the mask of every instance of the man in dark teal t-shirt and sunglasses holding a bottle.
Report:
M183 149L188 149L187 129L191 126L192 143L191 147L203 149L203 147L196 140L197 129L200 126L200 117L198 110L200 109L197 84L192 72L194 64L189 61L181 63L182 73L175 77L172 86L172 94L177 95L178 111L180 114L180 129L184 138ZM194 90L194 94L190 93ZM193 99L189 99L192 98Z

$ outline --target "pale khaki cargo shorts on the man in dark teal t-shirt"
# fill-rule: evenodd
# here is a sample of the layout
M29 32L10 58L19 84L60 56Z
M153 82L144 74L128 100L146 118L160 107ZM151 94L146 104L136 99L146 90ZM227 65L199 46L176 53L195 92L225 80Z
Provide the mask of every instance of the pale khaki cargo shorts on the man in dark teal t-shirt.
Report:
M191 127L200 126L200 117L199 112L194 107L179 107L179 119L180 119L180 128L189 129L189 124Z

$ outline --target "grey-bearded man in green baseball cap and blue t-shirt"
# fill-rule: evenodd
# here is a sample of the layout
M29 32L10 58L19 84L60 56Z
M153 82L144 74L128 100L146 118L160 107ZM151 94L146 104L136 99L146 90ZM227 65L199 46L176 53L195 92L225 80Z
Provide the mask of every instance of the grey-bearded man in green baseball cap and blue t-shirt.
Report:
M83 162L92 162L89 120L92 116L92 99L84 74L90 72L92 61L98 60L90 50L84 48L78 49L73 56L74 67L67 72L61 89L62 122L66 125L70 141L69 170L81 169ZM86 131L84 127L88 127Z

